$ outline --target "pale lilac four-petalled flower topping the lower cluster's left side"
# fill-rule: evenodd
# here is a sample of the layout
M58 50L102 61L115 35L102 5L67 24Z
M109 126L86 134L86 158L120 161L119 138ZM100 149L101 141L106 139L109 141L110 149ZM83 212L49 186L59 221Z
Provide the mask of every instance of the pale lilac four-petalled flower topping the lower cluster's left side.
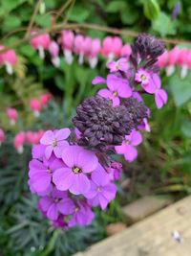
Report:
M46 145L45 156L49 159L54 152L55 156L60 158L62 150L68 146L68 142L65 141L70 135L69 128L62 128L53 132L53 130L47 130L42 136L40 143Z

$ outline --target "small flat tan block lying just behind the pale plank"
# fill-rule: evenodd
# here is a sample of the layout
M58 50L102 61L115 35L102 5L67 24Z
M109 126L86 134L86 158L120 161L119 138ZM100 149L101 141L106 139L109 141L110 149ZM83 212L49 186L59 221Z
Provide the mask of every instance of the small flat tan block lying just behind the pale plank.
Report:
M146 196L122 207L124 221L135 223L152 215L172 203L169 198Z

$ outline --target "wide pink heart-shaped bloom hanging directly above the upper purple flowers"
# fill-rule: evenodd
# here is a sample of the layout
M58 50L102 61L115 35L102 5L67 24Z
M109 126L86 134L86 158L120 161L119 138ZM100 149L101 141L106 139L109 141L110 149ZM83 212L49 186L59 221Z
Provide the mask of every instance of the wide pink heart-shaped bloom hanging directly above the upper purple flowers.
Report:
M102 42L101 54L111 61L113 58L120 56L122 40L118 36L106 36Z

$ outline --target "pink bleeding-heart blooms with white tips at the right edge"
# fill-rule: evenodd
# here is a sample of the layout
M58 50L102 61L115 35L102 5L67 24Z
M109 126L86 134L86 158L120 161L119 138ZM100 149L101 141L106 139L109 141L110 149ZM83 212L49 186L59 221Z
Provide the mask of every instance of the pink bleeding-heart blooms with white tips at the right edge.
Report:
M160 68L165 68L168 77L174 73L176 65L180 66L180 77L183 79L186 77L188 70L191 69L191 51L175 46L171 51L165 51L159 56L158 64Z

